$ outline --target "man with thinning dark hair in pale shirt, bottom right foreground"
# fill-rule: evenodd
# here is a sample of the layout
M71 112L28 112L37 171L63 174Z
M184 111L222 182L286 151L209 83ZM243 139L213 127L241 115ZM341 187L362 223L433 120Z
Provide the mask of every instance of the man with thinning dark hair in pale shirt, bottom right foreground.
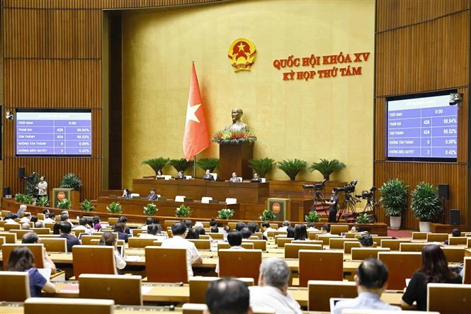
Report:
M382 291L387 288L387 267L379 259L365 259L356 270L355 283L358 296L350 300L339 301L334 307L334 314L342 310L401 310L380 300Z

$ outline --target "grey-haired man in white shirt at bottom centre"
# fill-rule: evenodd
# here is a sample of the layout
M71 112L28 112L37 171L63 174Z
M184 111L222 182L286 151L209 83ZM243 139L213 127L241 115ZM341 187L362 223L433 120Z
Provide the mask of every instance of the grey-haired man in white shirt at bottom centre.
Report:
M283 259L265 259L260 265L259 286L249 287L250 305L272 308L276 313L302 313L301 307L288 294L290 267Z

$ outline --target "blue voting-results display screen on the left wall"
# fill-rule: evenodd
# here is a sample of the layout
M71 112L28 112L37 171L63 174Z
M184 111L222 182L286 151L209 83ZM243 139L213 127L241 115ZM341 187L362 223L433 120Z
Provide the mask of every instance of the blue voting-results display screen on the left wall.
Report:
M17 156L91 156L91 111L16 111Z

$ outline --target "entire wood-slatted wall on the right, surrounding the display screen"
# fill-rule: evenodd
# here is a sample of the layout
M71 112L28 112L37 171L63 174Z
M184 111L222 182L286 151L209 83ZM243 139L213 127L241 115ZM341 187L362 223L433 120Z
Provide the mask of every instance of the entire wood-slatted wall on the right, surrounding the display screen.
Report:
M377 1L374 184L402 179L412 191L420 181L448 184L446 208L458 208L461 223L470 226L469 57L470 0ZM386 160L385 99L444 89L458 89L458 162L392 162ZM446 213L448 220L448 211ZM379 220L387 223L380 208ZM418 228L408 210L403 227Z

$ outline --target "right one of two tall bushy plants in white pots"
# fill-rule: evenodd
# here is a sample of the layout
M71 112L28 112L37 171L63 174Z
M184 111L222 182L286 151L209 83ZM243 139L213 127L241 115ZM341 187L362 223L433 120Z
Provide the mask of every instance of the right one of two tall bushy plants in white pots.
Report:
M436 186L426 182L417 184L411 193L411 209L419 219L421 232L430 232L431 222L443 213Z

